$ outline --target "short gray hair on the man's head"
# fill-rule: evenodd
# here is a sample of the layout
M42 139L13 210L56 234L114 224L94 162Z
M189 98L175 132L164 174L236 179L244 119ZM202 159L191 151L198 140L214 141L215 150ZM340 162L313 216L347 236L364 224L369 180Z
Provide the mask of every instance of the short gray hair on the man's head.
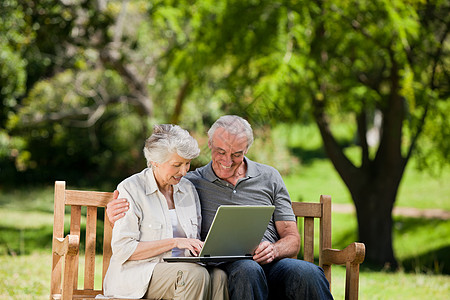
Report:
M253 144L252 126L244 118L235 115L220 117L208 130L209 143L212 143L212 138L217 128L223 128L233 135L245 135L247 138L247 150Z

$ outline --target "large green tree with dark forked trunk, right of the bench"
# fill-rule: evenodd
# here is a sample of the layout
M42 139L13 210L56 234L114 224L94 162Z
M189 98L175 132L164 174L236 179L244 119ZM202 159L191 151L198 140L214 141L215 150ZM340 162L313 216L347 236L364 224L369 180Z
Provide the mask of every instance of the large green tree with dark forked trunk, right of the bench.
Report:
M407 163L431 149L449 161L448 2L223 3L209 37L229 66L236 110L274 122L311 113L352 195L367 260L395 267L392 209ZM358 137L357 162L333 132L344 118Z

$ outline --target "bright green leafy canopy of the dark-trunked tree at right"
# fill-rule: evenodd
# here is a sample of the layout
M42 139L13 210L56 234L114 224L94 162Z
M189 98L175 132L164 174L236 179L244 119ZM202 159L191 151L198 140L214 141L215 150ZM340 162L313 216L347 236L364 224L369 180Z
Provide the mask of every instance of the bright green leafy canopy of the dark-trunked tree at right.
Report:
M228 111L257 124L296 123L309 121L323 106L339 121L356 120L364 112L370 129L374 111L388 113L387 103L398 93L407 105L404 131L410 136L405 148L416 146L418 133L421 138L432 135L433 129L422 122L445 111L442 104L448 102L444 3L226 3L219 6L224 17L218 19L214 37L203 38L220 41L215 54L226 66ZM441 133L436 141L445 144L436 147L432 142L441 163L449 161L449 152L440 150L449 140L444 123L428 123ZM353 126L355 135L356 129Z

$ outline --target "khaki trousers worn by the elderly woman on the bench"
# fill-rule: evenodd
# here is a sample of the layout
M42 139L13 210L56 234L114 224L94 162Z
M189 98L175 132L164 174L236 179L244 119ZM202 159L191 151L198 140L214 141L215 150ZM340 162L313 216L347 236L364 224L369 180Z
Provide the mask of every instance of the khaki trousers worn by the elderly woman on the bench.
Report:
M145 298L228 300L227 275L196 263L158 263Z

